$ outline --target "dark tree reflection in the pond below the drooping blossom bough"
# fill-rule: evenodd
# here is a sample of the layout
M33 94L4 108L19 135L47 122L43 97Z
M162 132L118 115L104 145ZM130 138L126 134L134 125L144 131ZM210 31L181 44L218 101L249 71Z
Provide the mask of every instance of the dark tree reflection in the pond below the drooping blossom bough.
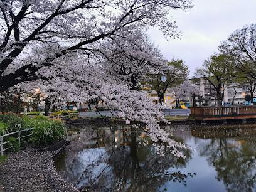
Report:
M97 144L90 149L91 159L87 159L86 164L82 163L84 159L79 154L68 155L65 159L67 171L61 175L64 174L64 178L78 188L90 191L157 191L167 181L186 185L187 175L171 169L186 166L191 159L190 150L184 151L186 159L168 152L161 157L146 134L125 129L97 131L96 137ZM73 174L71 178L70 174Z

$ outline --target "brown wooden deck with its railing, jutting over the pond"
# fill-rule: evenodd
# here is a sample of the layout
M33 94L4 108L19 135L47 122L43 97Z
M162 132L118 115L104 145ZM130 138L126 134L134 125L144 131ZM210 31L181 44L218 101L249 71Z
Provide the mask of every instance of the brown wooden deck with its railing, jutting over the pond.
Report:
M191 107L196 120L256 119L256 106Z

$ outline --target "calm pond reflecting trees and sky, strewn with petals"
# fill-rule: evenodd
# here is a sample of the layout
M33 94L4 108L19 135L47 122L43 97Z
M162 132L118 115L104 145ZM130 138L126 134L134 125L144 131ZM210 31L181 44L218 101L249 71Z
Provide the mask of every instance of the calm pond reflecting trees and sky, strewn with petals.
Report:
M186 159L157 155L145 132L82 127L55 158L61 177L83 191L256 191L256 127L169 126Z

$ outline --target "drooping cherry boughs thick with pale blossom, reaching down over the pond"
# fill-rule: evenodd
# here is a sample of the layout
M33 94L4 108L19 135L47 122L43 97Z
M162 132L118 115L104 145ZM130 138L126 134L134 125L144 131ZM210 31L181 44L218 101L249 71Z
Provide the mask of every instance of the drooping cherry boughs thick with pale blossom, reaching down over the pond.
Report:
M55 89L68 100L87 102L89 99L98 99L110 110L117 111L118 117L127 124L134 127L145 124L144 131L149 134L160 155L163 155L164 146L167 146L175 156L184 157L178 149L186 146L169 138L159 127L157 123L166 120L161 106L153 104L147 93L131 90L126 83L115 82L106 75L102 65L88 63L84 57L78 59L77 56L77 60L70 58L73 57L59 60L61 70L51 73L58 78L48 80L51 82L47 85L48 89Z

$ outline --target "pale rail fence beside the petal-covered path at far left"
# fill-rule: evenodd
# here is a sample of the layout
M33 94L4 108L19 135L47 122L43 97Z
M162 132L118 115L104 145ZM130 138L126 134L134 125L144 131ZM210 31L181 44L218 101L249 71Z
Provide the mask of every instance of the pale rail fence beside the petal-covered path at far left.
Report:
M6 151L6 150L8 150L8 149L11 149L11 148L13 147L13 146L11 146L11 147L6 147L6 148L4 148L4 145L5 145L5 144L8 144L9 142L11 142L11 141L4 141L4 137L8 137L8 136L12 136L12 135L14 135L14 134L18 134L18 137L17 137L16 139L18 139L19 145L21 145L22 143L29 141L29 139L28 139L28 140L25 140L25 141L22 141L22 142L21 142L21 138L29 137L29 136L32 135L32 134L30 134L30 132L29 132L29 134L25 134L25 135L21 136L21 132L28 132L28 131L31 131L32 129L33 129L33 128L24 129L24 130L19 130L19 131L10 132L9 134L5 134L5 135L3 135L3 136L0 136L0 155L3 156L3 152L4 152L4 151Z

